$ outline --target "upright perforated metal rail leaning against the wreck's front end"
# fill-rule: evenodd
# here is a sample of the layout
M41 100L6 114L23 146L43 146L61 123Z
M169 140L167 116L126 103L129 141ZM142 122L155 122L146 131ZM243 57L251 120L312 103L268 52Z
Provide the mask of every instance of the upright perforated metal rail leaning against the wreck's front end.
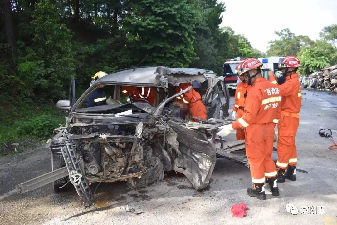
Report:
M66 167L69 172L69 179L71 183L74 185L77 194L80 196L81 201L84 203L84 206L91 206L93 195L90 190L88 181L85 178L85 173L84 171L82 171L80 162L76 157L72 143L67 143L64 147L62 147L61 150L64 161L66 162ZM72 179L71 174L76 176L78 179L76 181Z

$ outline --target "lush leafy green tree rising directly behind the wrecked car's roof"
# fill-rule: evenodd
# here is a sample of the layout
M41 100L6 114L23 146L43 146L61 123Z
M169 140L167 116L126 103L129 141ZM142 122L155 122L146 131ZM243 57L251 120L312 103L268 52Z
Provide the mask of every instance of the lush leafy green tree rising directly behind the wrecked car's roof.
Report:
M143 65L188 66L194 52L196 13L186 0L130 0L126 18L128 58L133 64L146 55Z

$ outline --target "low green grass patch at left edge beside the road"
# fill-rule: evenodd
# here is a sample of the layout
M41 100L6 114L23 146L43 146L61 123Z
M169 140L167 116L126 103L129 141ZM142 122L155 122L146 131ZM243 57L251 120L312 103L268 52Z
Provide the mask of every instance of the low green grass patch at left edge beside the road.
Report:
M0 96L0 105L0 156L7 154L3 143L51 138L53 130L65 122L64 112L36 100Z

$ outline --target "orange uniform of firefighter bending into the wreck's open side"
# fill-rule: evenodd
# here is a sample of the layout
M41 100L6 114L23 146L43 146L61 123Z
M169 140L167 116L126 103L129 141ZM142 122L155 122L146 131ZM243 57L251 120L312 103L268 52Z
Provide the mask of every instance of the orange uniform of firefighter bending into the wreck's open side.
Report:
M176 93L188 88L191 86L191 84L180 84L178 87L176 87ZM206 106L201 101L201 96L199 92L195 91L193 87L183 93L182 95L178 96L174 101L179 101L182 104L187 104L190 108L190 114L191 116L195 116L201 119L207 119L207 110ZM195 122L198 122L199 120L192 119Z

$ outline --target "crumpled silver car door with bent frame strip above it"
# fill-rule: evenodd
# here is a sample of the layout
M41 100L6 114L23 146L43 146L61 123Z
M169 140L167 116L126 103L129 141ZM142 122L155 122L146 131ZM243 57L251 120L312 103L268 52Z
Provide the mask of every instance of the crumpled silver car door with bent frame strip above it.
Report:
M166 103L172 101L175 97L191 89L188 87L181 92L164 100L154 111L153 121L160 118L161 112ZM193 129L187 124L193 124ZM173 158L173 169L183 173L192 183L196 190L202 190L208 186L209 179L213 173L216 160L215 143L206 130L216 129L214 125L201 124L196 122L185 123L179 119L167 120L167 125L175 133L178 144L173 143L167 135L166 139L171 146L176 146L176 154ZM200 125L198 125L200 124ZM171 134L170 134L171 135Z

